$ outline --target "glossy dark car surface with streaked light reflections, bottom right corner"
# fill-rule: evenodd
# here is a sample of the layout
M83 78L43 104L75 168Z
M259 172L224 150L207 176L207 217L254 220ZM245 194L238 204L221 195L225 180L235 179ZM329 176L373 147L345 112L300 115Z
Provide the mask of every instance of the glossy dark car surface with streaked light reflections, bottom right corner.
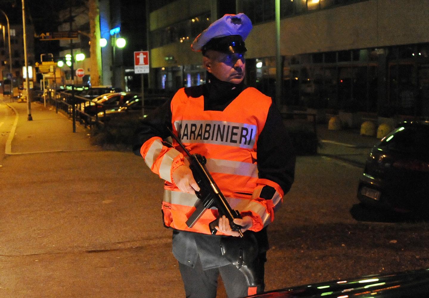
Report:
M429 297L429 269L332 280L266 292L248 298L423 298Z

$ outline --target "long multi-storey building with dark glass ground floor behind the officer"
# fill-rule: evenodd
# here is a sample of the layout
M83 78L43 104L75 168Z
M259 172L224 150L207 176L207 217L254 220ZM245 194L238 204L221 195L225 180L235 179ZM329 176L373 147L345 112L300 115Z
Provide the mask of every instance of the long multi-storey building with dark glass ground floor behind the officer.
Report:
M163 2L149 14L152 83L173 89L199 84L205 75L201 54L189 46L196 32L222 15L220 1ZM274 96L275 0L234 4L235 12L254 24L246 40L247 84ZM429 116L427 5L427 0L281 0L283 108Z

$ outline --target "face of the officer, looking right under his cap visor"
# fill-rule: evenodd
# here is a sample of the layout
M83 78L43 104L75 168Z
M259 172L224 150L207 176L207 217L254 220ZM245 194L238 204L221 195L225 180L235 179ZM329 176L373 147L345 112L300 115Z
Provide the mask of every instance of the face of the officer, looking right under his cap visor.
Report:
M240 84L244 79L246 68L244 54L208 50L202 60L205 69L221 81Z

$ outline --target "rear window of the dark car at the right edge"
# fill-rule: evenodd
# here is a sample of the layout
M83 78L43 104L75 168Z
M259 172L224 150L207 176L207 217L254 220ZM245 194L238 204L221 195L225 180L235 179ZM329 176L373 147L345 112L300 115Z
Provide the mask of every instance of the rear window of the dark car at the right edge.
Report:
M401 126L387 135L379 147L403 152L429 154L429 128Z

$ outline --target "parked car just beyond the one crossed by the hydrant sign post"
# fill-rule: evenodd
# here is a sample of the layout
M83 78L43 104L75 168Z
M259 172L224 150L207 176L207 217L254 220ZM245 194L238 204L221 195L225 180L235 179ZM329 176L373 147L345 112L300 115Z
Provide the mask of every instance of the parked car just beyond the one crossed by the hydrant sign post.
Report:
M103 108L112 108L124 105L125 102L138 98L140 93L136 92L116 92L106 93L94 98L91 102L85 102L85 113L94 116L103 111Z

